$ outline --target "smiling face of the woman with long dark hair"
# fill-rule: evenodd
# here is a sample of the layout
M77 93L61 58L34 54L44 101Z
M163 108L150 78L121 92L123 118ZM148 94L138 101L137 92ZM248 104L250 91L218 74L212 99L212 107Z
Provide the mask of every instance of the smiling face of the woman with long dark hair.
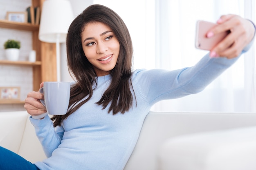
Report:
M81 34L83 52L97 76L110 74L119 55L120 44L109 26L101 22L85 25Z

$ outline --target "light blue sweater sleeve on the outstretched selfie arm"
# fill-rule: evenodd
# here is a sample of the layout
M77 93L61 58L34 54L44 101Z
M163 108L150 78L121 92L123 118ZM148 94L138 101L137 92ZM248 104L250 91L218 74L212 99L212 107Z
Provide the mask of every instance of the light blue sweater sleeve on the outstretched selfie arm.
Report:
M201 92L237 59L210 58L207 54L193 67L173 71L139 70L135 72L135 83L141 96L153 105L160 100Z

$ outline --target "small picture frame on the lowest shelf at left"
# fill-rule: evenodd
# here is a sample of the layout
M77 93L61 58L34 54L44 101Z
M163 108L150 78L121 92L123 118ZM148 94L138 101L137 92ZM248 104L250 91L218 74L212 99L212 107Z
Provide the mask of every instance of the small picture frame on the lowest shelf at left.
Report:
M19 101L20 87L0 87L0 101Z

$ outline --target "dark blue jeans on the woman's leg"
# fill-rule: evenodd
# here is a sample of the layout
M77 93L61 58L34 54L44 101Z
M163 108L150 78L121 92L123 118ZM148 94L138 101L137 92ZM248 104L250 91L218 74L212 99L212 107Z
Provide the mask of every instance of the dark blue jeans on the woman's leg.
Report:
M39 170L33 163L0 146L0 170Z

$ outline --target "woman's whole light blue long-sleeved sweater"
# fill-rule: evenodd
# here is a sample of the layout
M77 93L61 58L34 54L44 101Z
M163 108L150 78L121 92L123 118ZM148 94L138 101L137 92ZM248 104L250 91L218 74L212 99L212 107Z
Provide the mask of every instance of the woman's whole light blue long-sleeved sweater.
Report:
M98 77L92 98L61 126L54 129L48 116L43 120L30 118L48 157L36 166L40 170L124 169L152 105L202 91L236 59L210 59L207 54L190 68L135 70L132 85L137 107L134 103L130 111L114 116L108 107L95 104L111 81L110 75Z

